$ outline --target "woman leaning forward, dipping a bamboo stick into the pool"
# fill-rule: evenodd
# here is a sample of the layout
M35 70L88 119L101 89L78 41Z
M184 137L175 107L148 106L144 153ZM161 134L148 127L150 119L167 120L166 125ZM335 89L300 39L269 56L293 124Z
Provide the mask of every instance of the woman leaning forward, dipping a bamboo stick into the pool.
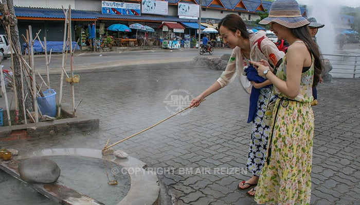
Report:
M249 60L259 61L267 59L271 64L275 65L284 53L279 51L276 45L266 37L266 32L259 31L257 33L249 33L246 29L244 20L237 14L228 14L219 23L219 31L225 44L231 49L232 53L225 71L221 74L215 83L202 92L199 96L191 100L190 106L197 107L201 100L210 94L224 88L238 76L243 75L244 66L247 70L247 78L253 84L250 94L250 105L248 121L252 122L251 136L248 150L248 158L246 168L253 175L250 179L241 181L238 189L247 190L255 187L259 180L261 169L265 163L265 152L267 146L268 133L270 127L263 122L266 108L266 102L272 92L272 86L269 80L258 75L251 75L250 71L256 69L250 65ZM258 46L258 40L261 40ZM273 56L273 57L270 57ZM274 59L276 58L276 59ZM251 72L252 73L252 72ZM250 196L254 196L255 191L246 192Z

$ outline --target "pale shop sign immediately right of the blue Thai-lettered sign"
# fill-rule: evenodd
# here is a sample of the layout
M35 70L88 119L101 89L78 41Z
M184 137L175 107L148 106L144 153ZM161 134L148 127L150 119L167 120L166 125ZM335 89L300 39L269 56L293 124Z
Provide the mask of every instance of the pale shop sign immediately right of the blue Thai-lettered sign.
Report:
M141 12L157 15L168 15L169 5L167 1L142 0Z

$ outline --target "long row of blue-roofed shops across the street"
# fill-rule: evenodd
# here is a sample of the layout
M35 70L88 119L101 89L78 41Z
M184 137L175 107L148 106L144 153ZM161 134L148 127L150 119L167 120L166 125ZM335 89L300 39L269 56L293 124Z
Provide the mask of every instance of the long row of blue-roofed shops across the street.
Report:
M200 10L200 2L201 12ZM149 36L159 38L163 36L161 25L164 22L181 24L185 34L196 34L199 29L199 15L201 14L202 29L206 27L217 28L221 18L229 13L239 14L249 25L259 19L259 12L266 12L271 2L260 0L134 0L134 1L101 1L101 0L13 0L15 15L18 19L19 33L26 33L29 25L32 33L39 30L40 38L62 41L64 30L64 12L71 6L71 25L74 27L73 39L87 37L88 25L94 24L97 37L106 34L106 28L113 24L131 25L140 23L154 28L155 32ZM304 10L302 10L304 11ZM304 13L304 12L303 12ZM111 33L133 37L132 32ZM0 29L0 33L5 33ZM184 37L184 33L177 36ZM121 35L121 36L120 36ZM140 33L145 35L145 33ZM168 35L168 34L167 34ZM166 35L166 36L167 36ZM20 38L24 43L24 39ZM80 43L83 42L80 40Z

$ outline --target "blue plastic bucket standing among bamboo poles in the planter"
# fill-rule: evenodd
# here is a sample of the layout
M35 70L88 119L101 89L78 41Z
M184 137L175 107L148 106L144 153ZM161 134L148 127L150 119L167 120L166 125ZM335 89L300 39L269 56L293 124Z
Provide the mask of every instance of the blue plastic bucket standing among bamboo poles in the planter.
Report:
M48 89L43 92L44 97L38 97L38 106L41 114L55 117L56 115L56 92Z

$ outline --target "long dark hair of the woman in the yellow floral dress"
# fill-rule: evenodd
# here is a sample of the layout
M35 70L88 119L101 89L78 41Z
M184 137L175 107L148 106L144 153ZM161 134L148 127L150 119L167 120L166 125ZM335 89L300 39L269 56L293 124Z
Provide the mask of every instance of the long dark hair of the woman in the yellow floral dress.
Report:
M299 28L291 29L291 32L297 38L300 38L308 46L309 52L314 56L313 87L316 87L320 81L321 72L323 70L323 63L322 63L319 47L311 37L308 26L302 26Z

